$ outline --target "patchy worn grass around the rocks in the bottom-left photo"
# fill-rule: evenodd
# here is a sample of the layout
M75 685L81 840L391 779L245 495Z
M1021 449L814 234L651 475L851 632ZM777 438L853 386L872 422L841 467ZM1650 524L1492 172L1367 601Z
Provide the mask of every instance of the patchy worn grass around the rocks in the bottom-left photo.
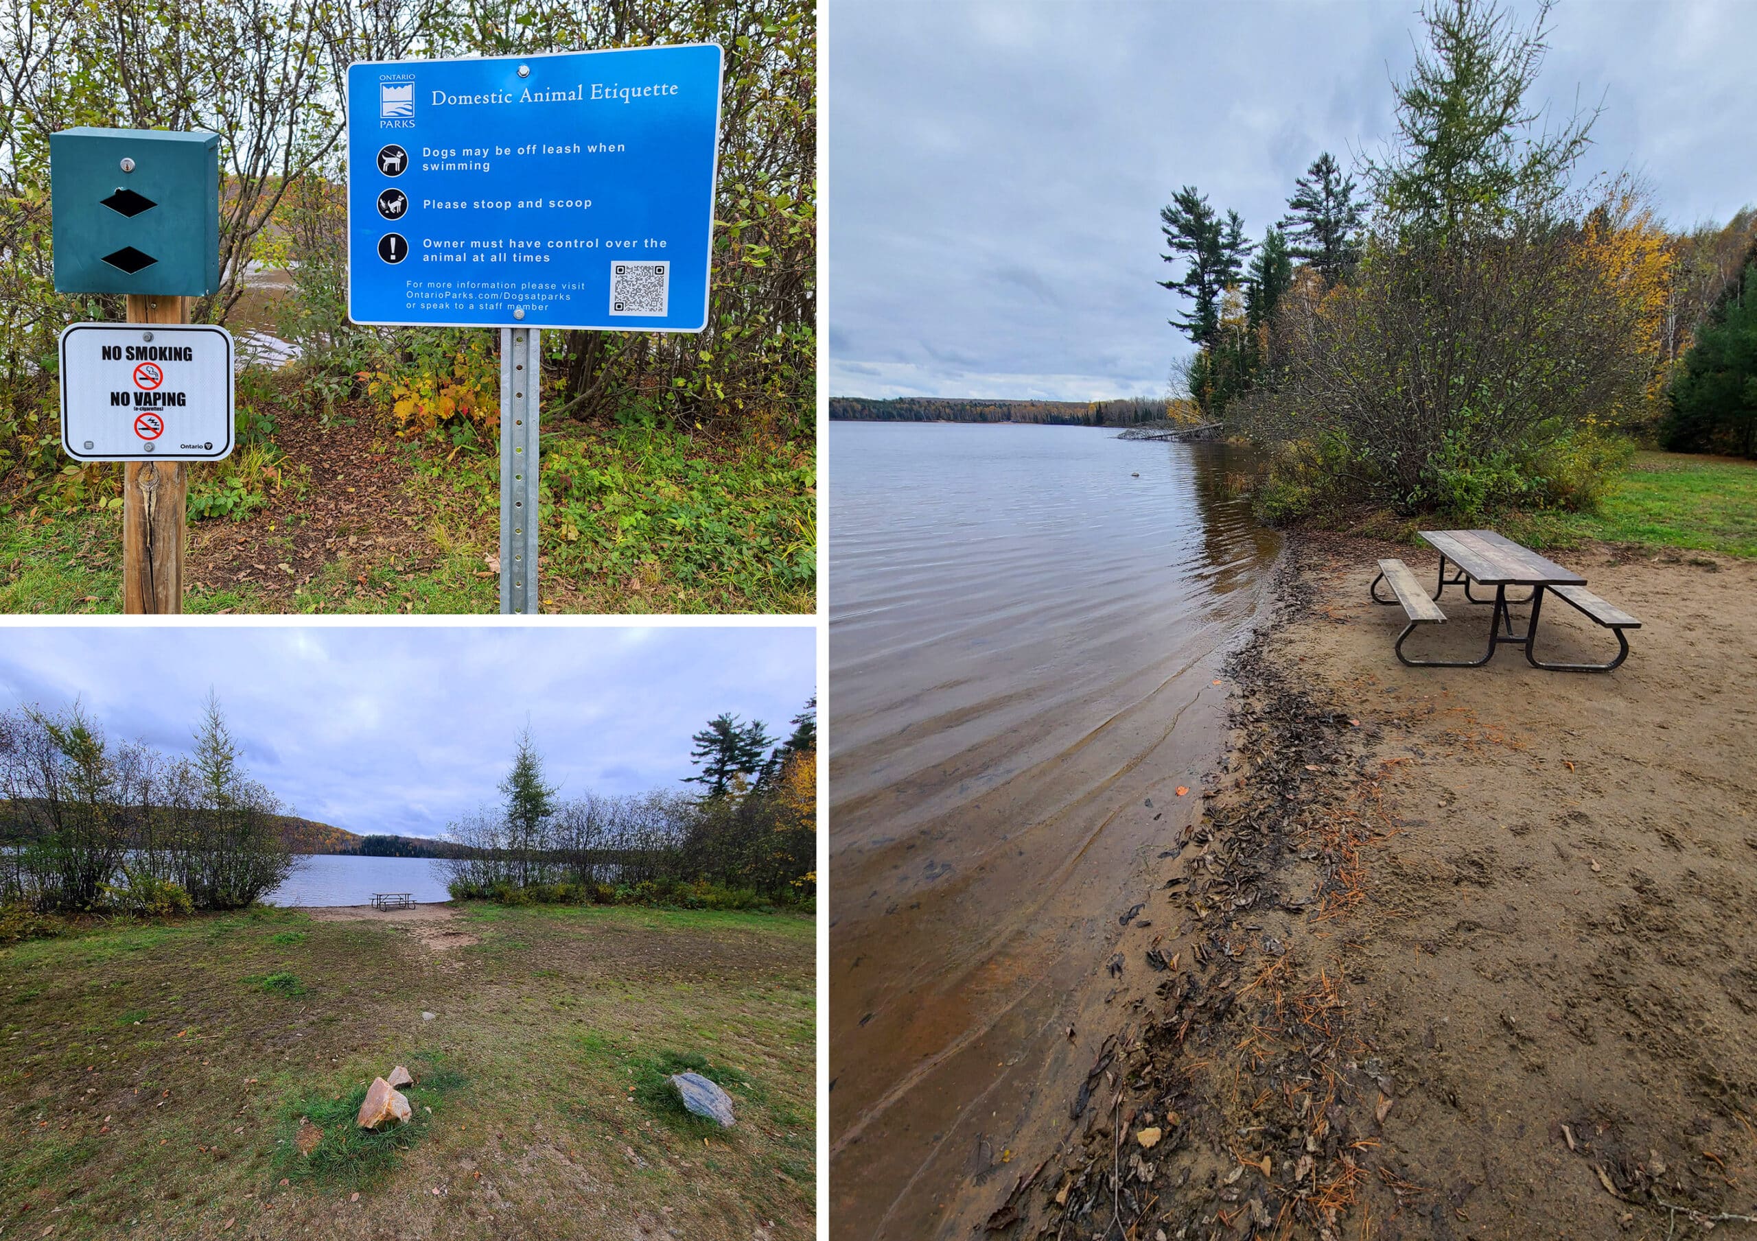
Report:
M264 909L0 948L0 1236L813 1234L810 920L445 927L462 946ZM415 1120L365 1137L395 1064ZM685 1067L734 1129L675 1102Z

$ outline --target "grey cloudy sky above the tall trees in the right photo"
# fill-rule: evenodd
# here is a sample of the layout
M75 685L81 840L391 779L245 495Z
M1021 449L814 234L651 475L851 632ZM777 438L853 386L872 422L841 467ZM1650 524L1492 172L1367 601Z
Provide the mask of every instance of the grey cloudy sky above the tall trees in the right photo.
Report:
M1377 151L1416 9L833 0L829 391L1163 393L1189 346L1160 207L1195 184L1262 239L1320 151ZM1643 174L1673 225L1757 204L1757 4L1562 0L1551 25L1537 100L1604 104L1587 170Z

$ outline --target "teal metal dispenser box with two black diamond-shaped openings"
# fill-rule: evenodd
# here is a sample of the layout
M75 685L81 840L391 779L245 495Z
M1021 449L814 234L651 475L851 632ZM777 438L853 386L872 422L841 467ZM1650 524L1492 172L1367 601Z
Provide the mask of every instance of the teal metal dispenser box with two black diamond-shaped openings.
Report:
M220 135L49 135L58 293L206 297L220 288Z

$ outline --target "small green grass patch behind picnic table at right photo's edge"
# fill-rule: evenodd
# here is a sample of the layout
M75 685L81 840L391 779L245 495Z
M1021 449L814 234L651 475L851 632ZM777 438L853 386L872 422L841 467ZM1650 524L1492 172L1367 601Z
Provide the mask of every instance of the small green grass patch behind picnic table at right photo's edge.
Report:
M1534 548L1602 539L1757 558L1757 462L1636 453L1597 513L1520 516L1502 530Z

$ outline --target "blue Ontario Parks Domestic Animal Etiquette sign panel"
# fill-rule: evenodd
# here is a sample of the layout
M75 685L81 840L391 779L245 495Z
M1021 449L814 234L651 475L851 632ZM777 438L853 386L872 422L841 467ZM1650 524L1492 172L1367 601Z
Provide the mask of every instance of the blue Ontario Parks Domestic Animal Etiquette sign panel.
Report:
M348 67L355 323L699 332L713 44Z

